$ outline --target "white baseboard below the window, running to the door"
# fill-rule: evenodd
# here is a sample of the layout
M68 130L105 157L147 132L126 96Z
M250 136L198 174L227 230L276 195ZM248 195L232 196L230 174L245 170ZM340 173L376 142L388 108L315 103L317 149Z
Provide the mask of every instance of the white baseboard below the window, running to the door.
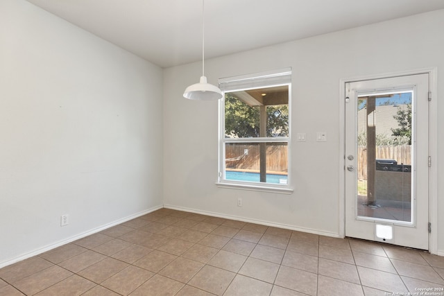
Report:
M293 225L287 225L287 224L282 224L282 223L274 223L274 222L264 221L264 220L250 219L250 218L244 218L244 217L239 217L239 216L230 216L230 215L226 215L226 214L214 213L212 211L201 211L201 210L198 210L198 209L189 209L187 207L176 207L176 206L173 206L171 204L164 204L164 208L166 208L166 209L176 209L178 211L187 211L187 212L190 212L190 213L202 214L202 215L219 217L219 218L225 218L225 219L231 219L231 220L238 220L238 221L243 221L243 222L247 222L247 223L255 223L255 224L266 225L266 226L271 226L271 227L279 227L279 228L294 230L294 231L297 231L297 232L307 232L307 233L310 233L310 234L318 234L318 235L321 235L321 236L330 236L330 237L335 237L335 238L341 238L341 236L339 236L338 233L334 233L334 232L324 232L324 231L318 230L318 229L311 229L311 228L305 228L305 227L296 227L296 226L293 226Z

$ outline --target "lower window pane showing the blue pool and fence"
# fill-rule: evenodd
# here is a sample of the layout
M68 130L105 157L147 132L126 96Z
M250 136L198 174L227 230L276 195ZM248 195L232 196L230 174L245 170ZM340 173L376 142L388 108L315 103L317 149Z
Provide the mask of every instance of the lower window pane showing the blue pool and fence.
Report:
M287 147L287 143L225 143L225 180L287 184Z

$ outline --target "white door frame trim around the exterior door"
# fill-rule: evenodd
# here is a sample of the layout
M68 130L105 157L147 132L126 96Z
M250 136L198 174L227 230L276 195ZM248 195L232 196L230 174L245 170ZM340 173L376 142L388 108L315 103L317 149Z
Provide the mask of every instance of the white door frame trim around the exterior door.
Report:
M438 252L438 108L437 108L437 67L417 69L412 71L384 73L380 75L353 77L339 80L339 236L345 237L345 83L377 78L391 78L396 76L429 74L429 89L432 92L429 105L429 156L432 157L432 166L429 175L429 222L432 223L432 232L429 236L429 252Z

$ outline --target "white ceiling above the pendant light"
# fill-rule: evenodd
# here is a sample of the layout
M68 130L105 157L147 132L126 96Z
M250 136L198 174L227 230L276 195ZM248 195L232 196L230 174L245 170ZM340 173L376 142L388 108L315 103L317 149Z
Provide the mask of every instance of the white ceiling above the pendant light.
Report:
M28 0L159 65L202 59L202 0ZM443 0L207 0L205 58L444 8Z

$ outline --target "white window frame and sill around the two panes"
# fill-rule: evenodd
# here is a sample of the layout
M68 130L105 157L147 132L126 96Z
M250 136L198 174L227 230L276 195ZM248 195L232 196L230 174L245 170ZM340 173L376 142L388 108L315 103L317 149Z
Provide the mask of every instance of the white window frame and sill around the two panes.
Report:
M229 85L228 89L225 85ZM255 137L255 138L225 138L225 92L236 90L257 89L259 87L289 87L289 136L288 137ZM219 87L223 98L219 100L219 166L216 185L222 188L266 191L273 193L293 193L291 188L291 68L278 69L262 73L219 79ZM262 182L247 182L225 179L225 143L287 143L287 184L271 184Z

